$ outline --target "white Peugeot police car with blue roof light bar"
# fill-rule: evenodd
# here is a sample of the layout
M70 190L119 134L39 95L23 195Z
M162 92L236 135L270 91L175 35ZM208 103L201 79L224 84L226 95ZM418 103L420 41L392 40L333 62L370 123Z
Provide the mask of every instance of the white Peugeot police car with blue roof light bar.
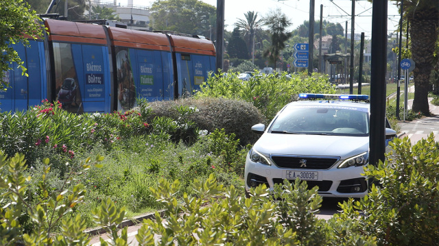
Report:
M323 197L363 197L368 192L361 175L369 156L367 95L299 95L305 101L287 104L265 129L246 158L246 193L284 179L306 180ZM386 138L396 136L385 120Z

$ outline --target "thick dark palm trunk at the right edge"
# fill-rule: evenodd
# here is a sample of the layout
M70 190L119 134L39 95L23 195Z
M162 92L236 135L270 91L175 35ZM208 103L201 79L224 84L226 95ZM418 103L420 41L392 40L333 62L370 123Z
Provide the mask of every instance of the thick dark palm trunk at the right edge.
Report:
M436 17L436 18L435 18ZM437 38L438 12L415 12L409 15L414 73L414 100L412 110L429 116L429 79L433 68L434 47Z

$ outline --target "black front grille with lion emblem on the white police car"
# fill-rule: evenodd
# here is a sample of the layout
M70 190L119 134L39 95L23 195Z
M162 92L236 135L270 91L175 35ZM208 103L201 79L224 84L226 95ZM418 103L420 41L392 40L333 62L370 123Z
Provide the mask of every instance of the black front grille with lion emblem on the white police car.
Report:
M308 158L297 156L272 156L277 167L286 169L329 169L337 162L338 158ZM304 163L303 160L306 160Z

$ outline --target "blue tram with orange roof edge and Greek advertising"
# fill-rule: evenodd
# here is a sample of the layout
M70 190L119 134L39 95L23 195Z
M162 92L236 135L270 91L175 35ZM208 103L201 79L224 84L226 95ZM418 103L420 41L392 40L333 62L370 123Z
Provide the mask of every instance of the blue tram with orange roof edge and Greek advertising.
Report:
M53 19L45 26L45 39L14 45L29 77L19 69L3 74L11 88L0 91L0 112L27 110L43 99L70 112L126 111L139 97L191 95L215 71L215 47L198 36Z

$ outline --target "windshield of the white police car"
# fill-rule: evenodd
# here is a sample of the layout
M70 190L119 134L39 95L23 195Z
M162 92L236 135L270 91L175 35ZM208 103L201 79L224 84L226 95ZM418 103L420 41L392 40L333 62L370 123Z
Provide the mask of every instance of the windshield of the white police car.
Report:
M291 107L275 119L273 133L368 136L367 109L348 107Z

